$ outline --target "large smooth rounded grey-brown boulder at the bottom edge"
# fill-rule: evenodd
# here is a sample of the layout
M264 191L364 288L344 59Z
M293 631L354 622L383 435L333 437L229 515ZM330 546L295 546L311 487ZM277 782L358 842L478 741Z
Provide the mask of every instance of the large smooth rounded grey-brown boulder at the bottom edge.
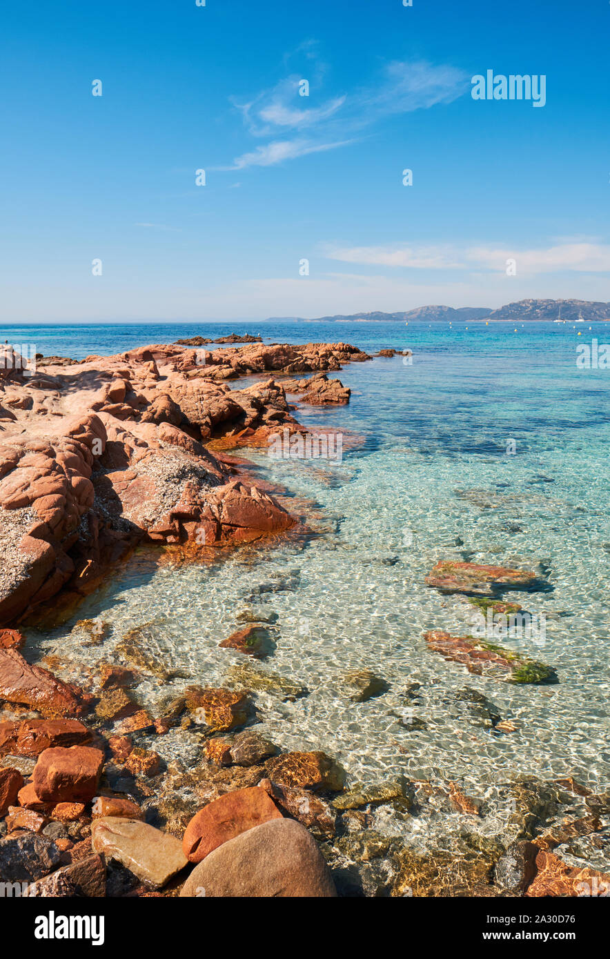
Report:
M230 839L196 866L180 893L206 899L336 895L316 840L292 819L275 819Z

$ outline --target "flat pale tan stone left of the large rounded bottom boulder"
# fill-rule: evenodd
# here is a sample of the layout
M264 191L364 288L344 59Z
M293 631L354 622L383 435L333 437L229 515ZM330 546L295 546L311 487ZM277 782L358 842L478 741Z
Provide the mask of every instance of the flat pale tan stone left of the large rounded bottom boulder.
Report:
M188 864L176 836L136 819L108 816L91 825L92 847L159 889Z

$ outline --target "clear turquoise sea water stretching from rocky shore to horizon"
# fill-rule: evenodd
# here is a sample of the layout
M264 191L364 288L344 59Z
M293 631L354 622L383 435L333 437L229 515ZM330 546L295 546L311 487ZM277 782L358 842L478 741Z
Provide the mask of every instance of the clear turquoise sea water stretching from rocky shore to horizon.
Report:
M146 697L156 704L181 690L184 677L220 685L241 660L218 643L254 595L278 617L264 667L309 690L293 702L259 694L265 732L278 745L324 749L368 782L401 772L461 779L476 793L516 773L572 774L607 788L610 370L579 370L575 359L578 342L610 341L610 327L529 324L514 333L509 324L468 325L7 328L10 341L32 339L39 352L77 358L232 331L413 351L411 364L398 356L345 367L335 375L352 388L348 407L297 414L364 436L357 449L344 447L342 461L251 453L259 475L319 504L321 535L264 550L255 563L251 550L236 550L212 567L151 573L128 565L78 613L110 623L105 647L79 645L74 659L107 658L128 628L154 621L159 652L183 675L171 690L145 684ZM547 614L544 643L506 644L555 667L558 684L508 686L428 649L426 629L463 634L473 625L468 604L425 585L439 558L541 564L551 591L514 598ZM65 653L72 626L32 632L31 642ZM352 703L341 682L354 668L383 676L387 693ZM464 706L465 688L487 696L516 730L485 728ZM425 728L413 730L413 719ZM200 752L182 733L155 739L154 748L186 762Z

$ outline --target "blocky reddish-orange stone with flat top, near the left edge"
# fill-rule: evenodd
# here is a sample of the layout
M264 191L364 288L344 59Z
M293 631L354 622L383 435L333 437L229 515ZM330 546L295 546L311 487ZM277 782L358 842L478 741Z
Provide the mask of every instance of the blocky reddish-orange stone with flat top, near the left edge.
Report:
M35 793L43 802L88 802L95 796L104 753L89 746L46 749L35 764Z

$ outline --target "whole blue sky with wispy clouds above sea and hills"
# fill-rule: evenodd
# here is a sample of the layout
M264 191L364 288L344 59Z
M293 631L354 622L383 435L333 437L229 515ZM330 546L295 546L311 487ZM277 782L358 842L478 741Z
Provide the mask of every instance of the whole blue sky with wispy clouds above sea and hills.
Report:
M610 5L412 4L7 5L3 319L610 300Z

